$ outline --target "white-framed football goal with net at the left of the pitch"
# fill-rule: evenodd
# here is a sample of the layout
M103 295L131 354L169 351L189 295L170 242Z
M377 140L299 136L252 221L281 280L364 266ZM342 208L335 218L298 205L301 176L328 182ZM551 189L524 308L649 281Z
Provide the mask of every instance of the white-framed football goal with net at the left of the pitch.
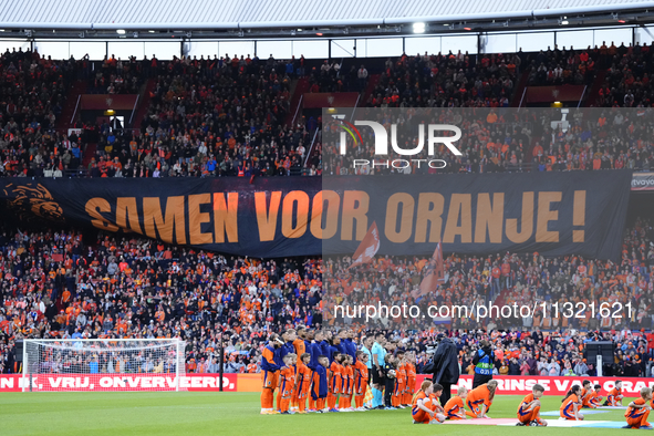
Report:
M23 392L185 391L179 339L24 340Z

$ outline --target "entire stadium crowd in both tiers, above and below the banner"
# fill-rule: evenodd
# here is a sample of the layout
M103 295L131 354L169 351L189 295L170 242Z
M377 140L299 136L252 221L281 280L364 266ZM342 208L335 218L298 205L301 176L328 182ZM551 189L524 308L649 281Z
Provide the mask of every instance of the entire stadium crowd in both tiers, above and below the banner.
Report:
M464 156L454 159L439 149L435 157L449 163L446 172L526 170L526 163L532 163L532 170L533 166L538 170L646 170L652 159L648 107L629 113L604 108L590 117L579 112L567 132L550 127L552 112L529 110L509 115L504 111L517 74L525 68L533 72L529 65L542 55L548 69L556 70L562 62L577 69L561 79L572 83L579 81L579 74L583 81L590 80L594 69L590 63L595 59L601 65L611 61L610 86L625 92L625 98L632 89L637 95L634 104L623 98L624 105L648 106L648 82L643 80L651 64L648 48L603 51L556 49L534 59L523 53L474 60L461 53L404 55L386 62L366 106L482 106L458 110L469 115L458 120L466 132L459 144ZM293 79L307 75L313 92L365 92L368 73L364 65L353 66L355 70L345 75L340 65L329 62L308 71L303 59L123 62L112 56L91 76L86 60L59 62L20 51L6 53L0 64L4 79L0 173L8 177L58 175L81 165L84 134L66 137L51 132L72 72L86 75L98 91L108 86L115 93L133 92L141 85L141 76L155 80L141 131L97 127L97 154L87 168L92 177L288 176L302 168L311 175L347 174L349 159L371 156L370 147L350 147L353 154L341 157L334 143L326 143L322 155L320 141L311 147L314 126L284 125ZM532 80L541 81L541 73L537 68ZM634 75L641 81L632 81ZM550 70L546 82L549 77ZM559 83L556 74L553 83ZM610 94L614 98L613 91ZM457 121L456 116L451 111L439 121ZM403 141L408 139L401 137ZM323 162L321 156L330 157ZM377 174L372 168L362 172ZM498 373L591 375L592 365L583 362L584 336L572 332L614 330L604 334L619 343L615 374L644 374L653 355L654 335L645 338L642 332L629 333L629 329L648 331L653 326L652 240L651 224L637 221L625 236L620 264L575 256L543 259L538 253L450 255L445 260L449 281L417 304L542 301L550 309L552 303L568 301L632 303L635 311L631 319L600 321L586 313L569 320L537 313L519 323L487 320L485 331L478 332L477 321L464 318L455 319L447 332L457 343L464 372L478 341L488 338L496 345ZM216 372L216 349L222 341L229 355L228 372L257 372L270 332L294 325L320 329L323 313L326 325L342 323L344 320L332 318L335 303L413 301L407 295L419 286L427 262L417 257L380 258L347 278L347 258L324 263L319 258L261 261L139 238L100 235L89 241L79 231L22 232L13 227L4 228L0 236L0 372L17 371L12 351L14 340L21 336L181 336L187 340L189 372ZM340 295L345 295L344 300ZM402 319L380 320L370 331L359 321L350 324L355 342L361 344L364 336L383 330L392 346L416 353L418 371L443 331L432 326L418 333ZM539 329L560 333L541 335ZM328 330L324 341L333 344L334 332Z

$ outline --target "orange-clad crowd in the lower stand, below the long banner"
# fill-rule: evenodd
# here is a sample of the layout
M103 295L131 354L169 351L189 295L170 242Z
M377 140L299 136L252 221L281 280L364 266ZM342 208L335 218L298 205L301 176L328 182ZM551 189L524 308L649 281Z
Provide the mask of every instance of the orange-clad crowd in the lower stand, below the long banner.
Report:
M419 370L427 363L435 336L448 328L464 372L479 339L487 338L497 347L498 373L515 374L517 368L522 373L528 362L530 373L547 370L564 375L584 372L583 343L590 336L574 332L601 330L617 344L612 371L644 374L654 355L654 334L644 333L653 326L652 240L651 222L637 220L625 235L620 263L575 256L543 259L538 253L450 255L445 259L447 283L416 301L411 292L421 283L424 258L378 258L347 278L349 258L261 261L136 237L97 233L96 240L89 240L79 231L3 228L0 362L3 372L17 371L11 351L19 338L180 336L187 341L189 372L217 368L219 341L228 356L226 371L257 372L271 332L295 325L314 332L324 325L329 341L336 326L345 325L339 334L352 331L359 344L364 336L384 331L388 341L415 351ZM455 318L451 325L378 319L364 328L357 319L334 319L332 310L335 303L361 301L469 305L489 300L548 305L631 302L634 312L620 319L600 320L599 313L591 318L588 312L582 319L552 319L549 310L547 318L537 314L500 322Z

